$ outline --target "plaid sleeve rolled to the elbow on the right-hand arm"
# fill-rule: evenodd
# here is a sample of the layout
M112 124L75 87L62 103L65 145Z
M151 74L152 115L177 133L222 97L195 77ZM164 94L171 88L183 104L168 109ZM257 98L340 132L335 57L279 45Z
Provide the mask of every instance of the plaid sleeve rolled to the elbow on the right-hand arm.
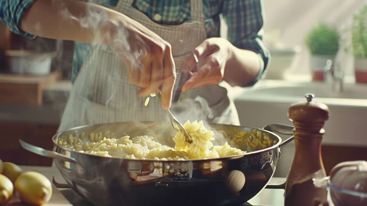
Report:
M261 78L269 64L270 53L262 43L264 14L262 0L225 0L222 15L228 26L228 40L241 49L257 53L264 61L257 78Z

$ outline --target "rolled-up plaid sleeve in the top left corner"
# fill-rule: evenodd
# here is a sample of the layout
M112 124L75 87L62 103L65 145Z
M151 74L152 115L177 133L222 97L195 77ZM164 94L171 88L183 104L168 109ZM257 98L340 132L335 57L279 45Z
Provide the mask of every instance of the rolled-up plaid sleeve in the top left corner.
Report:
M26 38L34 38L34 35L23 32L20 28L24 12L34 1L36 0L0 0L0 21L12 32Z

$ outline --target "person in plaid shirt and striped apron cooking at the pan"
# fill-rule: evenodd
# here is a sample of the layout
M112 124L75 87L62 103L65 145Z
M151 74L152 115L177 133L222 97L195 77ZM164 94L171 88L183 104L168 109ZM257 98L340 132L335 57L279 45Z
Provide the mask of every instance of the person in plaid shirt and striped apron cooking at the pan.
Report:
M228 39L219 35L220 15ZM214 111L212 122L239 125L218 84L252 86L270 58L262 44L262 0L2 0L0 20L27 38L76 42L60 130L160 121L177 82L179 102L200 97ZM144 107L142 97L153 92L161 98Z

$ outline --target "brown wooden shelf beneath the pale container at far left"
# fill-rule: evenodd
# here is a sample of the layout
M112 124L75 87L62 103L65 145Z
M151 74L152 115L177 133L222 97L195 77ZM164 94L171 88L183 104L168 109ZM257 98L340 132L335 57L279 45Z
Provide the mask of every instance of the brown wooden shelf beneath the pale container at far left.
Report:
M0 73L0 104L41 105L43 89L60 78L59 71L47 76Z

